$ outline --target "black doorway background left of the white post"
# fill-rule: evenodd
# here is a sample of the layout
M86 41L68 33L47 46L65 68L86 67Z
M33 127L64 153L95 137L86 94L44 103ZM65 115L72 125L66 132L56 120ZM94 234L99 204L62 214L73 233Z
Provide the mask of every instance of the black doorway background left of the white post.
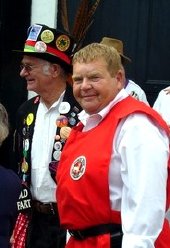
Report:
M16 111L27 97L26 85L19 77L20 61L13 56L12 50L23 46L30 23L30 8L29 0L0 1L0 101L6 107L10 121L10 135L0 148L0 164L11 168Z

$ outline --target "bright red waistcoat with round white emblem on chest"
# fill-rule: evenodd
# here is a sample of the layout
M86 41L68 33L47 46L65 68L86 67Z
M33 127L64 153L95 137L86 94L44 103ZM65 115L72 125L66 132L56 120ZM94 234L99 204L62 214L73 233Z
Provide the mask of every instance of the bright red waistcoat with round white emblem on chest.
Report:
M156 125L169 132L159 114L132 97L116 104L97 127L86 132L82 132L81 124L73 128L62 153L56 178L57 202L63 227L80 230L99 224L121 223L120 212L110 208L109 164L117 125L122 118L134 112L148 115ZM166 231L170 237L170 230L167 228ZM108 234L99 235L81 241L81 248L109 248L109 242ZM157 248L169 248L170 238L168 242L166 246L159 243ZM79 248L80 241L71 238L67 247Z

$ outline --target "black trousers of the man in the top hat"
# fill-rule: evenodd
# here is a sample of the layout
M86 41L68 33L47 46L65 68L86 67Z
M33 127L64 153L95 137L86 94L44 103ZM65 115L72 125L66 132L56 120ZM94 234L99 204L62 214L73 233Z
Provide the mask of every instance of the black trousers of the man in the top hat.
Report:
M66 231L59 227L56 214L32 213L26 248L64 248Z

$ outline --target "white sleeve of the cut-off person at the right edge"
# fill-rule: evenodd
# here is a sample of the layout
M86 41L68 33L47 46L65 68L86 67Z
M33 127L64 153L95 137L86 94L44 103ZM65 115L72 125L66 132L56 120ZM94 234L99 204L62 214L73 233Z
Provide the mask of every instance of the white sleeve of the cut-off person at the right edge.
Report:
M166 89L170 89L170 86ZM159 92L153 109L158 111L162 118L170 125L170 94L166 94L165 89Z

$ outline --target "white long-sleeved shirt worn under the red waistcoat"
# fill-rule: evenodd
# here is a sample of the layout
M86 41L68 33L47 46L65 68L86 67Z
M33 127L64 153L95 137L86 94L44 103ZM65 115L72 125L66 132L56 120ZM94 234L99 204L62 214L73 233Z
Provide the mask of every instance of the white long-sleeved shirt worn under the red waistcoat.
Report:
M85 130L97 126L126 96L127 92L121 90L105 109L91 117L81 112ZM118 125L113 154L110 204L121 211L122 248L153 248L165 216L169 139L146 115L135 113Z

